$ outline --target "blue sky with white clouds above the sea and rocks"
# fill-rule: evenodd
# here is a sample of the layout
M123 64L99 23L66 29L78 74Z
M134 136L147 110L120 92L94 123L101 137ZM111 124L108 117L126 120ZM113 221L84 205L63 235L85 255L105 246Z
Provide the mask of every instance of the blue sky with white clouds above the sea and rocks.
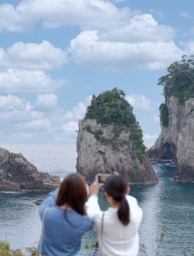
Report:
M92 95L123 89L149 148L158 79L194 54L191 0L2 0L0 140L75 143Z

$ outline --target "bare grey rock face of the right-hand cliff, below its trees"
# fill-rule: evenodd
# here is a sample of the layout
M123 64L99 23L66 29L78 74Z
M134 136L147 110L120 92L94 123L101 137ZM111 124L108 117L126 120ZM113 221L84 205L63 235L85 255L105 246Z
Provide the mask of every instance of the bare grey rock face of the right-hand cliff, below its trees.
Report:
M183 107L177 97L167 97L168 128L161 125L161 135L147 151L152 160L177 163L176 181L194 181L194 98Z

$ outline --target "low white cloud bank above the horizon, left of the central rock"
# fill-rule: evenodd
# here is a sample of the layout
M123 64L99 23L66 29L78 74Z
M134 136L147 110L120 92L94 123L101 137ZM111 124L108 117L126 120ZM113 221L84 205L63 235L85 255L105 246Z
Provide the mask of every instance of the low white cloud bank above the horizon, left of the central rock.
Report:
M32 142L40 139L59 142L60 139L61 142L65 138L67 141L67 135L68 139L75 139L78 119L84 117L91 99L92 96L88 96L84 103L78 103L71 111L64 111L57 106L58 99L54 93L37 95L32 107L29 101L18 96L0 96L0 137L12 142L20 139ZM50 112L46 116L47 110Z

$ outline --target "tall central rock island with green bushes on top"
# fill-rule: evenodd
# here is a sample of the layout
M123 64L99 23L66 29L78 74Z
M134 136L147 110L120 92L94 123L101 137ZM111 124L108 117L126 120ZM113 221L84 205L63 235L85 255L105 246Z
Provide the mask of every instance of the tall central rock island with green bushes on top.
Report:
M88 183L95 174L114 170L129 184L158 183L145 153L142 130L124 96L116 88L93 95L85 118L79 121L76 168Z

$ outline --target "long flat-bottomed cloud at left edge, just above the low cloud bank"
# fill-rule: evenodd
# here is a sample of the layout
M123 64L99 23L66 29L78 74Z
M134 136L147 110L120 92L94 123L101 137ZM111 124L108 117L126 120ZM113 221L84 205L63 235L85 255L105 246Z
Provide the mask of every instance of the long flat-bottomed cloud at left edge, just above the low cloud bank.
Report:
M50 93L63 85L70 85L69 80L51 79L43 71L9 68L0 72L0 93Z

